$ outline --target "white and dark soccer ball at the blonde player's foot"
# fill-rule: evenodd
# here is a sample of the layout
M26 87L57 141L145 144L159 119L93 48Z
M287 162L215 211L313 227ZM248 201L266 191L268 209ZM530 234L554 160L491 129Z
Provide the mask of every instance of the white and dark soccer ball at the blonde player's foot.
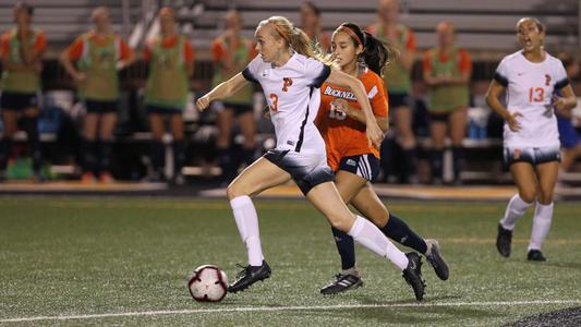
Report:
M226 272L214 265L199 266L187 283L190 294L198 302L218 302L228 292Z

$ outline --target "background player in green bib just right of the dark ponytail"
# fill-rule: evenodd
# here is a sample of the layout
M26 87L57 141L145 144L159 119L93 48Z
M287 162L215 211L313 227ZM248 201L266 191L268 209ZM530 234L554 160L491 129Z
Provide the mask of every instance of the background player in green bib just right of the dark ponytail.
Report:
M415 36L411 28L399 23L398 0L379 0L377 13L379 22L367 27L376 38L388 43L399 56L387 65L384 81L389 93L390 118L395 123L396 142L401 147L401 182L416 183L415 136L412 130L413 99L411 96L411 71L415 59ZM386 137L383 153L392 152L392 138ZM390 143L391 142L391 143ZM394 173L396 156L382 156L384 179Z

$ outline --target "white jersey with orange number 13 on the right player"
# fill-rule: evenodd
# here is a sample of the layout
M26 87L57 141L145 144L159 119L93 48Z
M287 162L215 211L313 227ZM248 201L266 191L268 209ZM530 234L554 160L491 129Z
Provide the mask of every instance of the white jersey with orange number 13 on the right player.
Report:
M559 146L559 132L552 101L569 80L562 63L547 52L543 62L531 62L522 51L500 61L494 78L505 86L507 109L518 111L521 130L512 132L505 122L505 147Z

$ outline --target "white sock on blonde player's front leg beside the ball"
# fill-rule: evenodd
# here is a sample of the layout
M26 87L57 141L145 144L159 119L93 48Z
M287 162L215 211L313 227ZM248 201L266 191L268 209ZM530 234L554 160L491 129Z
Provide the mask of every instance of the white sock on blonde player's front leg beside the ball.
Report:
M238 231L242 242L246 244L249 252L249 265L262 266L264 256L261 246L261 233L258 231L258 216L252 204L252 199L246 196L237 196L230 201L230 206L234 213Z

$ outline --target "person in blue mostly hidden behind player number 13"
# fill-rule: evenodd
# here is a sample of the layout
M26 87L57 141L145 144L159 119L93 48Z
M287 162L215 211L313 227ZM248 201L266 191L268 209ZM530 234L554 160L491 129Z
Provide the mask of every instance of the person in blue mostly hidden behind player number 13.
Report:
M557 58L562 62L567 76L570 80L579 75L579 59L572 53L561 52ZM562 149L560 166L562 171L570 171L577 158L581 157L581 135L579 135L579 132L572 123L574 118L571 114L571 110L556 110L555 113L557 114L559 140Z

